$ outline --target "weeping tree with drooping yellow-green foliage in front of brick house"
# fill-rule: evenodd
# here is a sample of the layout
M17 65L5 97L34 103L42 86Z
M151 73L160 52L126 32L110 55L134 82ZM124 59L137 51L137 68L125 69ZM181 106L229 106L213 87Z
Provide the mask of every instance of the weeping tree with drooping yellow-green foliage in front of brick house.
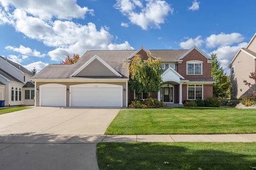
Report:
M132 81L129 82L131 91L148 93L151 97L153 92L158 92L163 83L162 61L160 58L153 59L149 52L148 60L143 61L140 55L135 55L131 59L129 72Z

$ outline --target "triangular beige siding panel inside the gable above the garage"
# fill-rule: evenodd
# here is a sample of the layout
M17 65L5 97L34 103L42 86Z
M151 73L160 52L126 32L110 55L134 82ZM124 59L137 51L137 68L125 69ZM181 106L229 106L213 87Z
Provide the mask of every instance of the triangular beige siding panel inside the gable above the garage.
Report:
M116 76L114 72L104 66L99 60L93 60L76 76Z

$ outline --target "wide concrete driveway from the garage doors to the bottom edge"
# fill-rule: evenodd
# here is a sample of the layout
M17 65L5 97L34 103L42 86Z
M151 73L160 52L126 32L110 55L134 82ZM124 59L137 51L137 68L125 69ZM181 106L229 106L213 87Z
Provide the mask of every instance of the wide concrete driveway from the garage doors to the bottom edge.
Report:
M0 169L99 169L96 144L119 110L35 107L0 115Z

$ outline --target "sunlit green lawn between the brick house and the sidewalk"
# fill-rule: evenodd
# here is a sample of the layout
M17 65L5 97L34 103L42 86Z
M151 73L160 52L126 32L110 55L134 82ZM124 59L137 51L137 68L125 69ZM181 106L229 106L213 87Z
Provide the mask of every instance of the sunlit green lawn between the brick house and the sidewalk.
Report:
M256 110L173 108L121 110L105 134L255 133Z

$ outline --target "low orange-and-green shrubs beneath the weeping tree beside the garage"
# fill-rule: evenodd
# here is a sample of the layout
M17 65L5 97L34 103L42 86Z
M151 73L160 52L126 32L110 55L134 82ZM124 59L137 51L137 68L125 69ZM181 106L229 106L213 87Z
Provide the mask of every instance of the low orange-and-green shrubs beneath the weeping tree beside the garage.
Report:
M155 98L148 98L146 100L133 100L129 105L129 108L161 108L164 107L165 104L163 102L159 102Z

